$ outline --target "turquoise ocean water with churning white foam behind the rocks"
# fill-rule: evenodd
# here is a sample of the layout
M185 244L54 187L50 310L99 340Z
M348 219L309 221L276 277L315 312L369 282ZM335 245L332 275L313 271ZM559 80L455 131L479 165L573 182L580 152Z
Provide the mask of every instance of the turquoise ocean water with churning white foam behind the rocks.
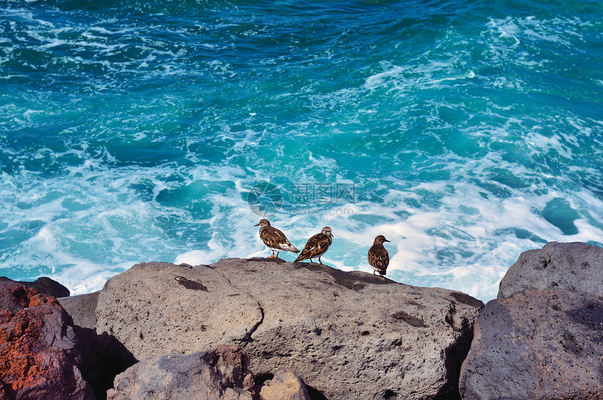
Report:
M603 246L602 44L600 0L0 0L0 275L267 256L269 218L489 300Z

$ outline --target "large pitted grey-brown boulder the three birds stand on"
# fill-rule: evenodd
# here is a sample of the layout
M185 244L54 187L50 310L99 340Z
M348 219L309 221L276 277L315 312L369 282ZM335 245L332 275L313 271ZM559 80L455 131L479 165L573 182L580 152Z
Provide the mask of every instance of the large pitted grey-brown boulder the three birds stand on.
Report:
M449 399L482 307L312 263L154 262L107 281L96 328L137 359L240 345L257 375L293 371L328 399Z

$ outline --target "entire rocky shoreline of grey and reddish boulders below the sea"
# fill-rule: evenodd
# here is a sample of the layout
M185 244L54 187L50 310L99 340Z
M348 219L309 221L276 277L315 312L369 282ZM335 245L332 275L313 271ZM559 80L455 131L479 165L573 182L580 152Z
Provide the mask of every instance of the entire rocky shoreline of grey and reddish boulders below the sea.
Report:
M58 301L0 279L0 399L601 399L602 256L522 253L485 306L267 258L141 263Z

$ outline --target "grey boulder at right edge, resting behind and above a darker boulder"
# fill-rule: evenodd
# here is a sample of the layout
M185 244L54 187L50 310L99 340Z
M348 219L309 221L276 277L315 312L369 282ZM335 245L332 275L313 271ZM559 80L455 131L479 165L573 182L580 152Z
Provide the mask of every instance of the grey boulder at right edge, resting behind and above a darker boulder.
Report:
M501 280L498 298L529 288L562 288L603 296L603 248L553 241L541 249L524 251Z

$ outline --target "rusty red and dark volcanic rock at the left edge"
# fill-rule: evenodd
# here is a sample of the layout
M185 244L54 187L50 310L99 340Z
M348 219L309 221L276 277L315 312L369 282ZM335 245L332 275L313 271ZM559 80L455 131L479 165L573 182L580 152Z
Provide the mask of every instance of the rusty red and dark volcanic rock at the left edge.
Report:
M72 319L56 298L0 282L0 399L94 399Z

